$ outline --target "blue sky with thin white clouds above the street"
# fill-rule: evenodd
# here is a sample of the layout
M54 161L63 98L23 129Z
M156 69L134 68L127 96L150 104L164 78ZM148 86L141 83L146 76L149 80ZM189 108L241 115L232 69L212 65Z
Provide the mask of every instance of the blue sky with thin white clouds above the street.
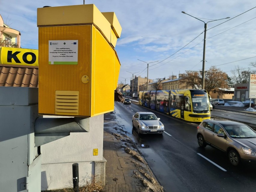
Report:
M0 0L0 14L4 23L21 32L22 48L38 49L37 8L82 4L83 0ZM256 70L250 65L256 62L254 1L85 0L85 4L115 12L122 27L115 47L121 63L118 83L130 84L132 77L144 78L147 72L156 81L202 71L204 22L208 22L206 73L211 66L230 77L237 66Z

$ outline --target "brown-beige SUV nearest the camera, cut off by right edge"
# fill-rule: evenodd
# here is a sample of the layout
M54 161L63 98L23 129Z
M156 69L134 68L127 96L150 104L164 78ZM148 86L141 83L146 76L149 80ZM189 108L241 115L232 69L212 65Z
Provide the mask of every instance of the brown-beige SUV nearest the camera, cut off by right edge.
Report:
M234 166L241 160L256 161L256 132L243 123L230 120L203 120L197 127L197 142L201 148L210 145L226 152Z

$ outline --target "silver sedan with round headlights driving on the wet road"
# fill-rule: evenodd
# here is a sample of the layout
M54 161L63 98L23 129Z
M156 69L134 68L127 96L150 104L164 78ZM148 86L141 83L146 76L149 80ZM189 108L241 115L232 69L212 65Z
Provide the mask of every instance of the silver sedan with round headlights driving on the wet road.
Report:
M152 112L137 112L133 115L133 129L138 130L138 134L158 133L163 134L164 125L160 118Z

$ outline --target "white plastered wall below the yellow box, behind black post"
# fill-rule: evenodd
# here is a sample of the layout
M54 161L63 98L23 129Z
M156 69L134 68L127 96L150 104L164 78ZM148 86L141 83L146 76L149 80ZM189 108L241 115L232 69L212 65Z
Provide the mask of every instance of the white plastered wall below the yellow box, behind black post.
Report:
M41 146L41 190L72 188L72 164L78 163L79 186L94 175L94 161L103 159L104 114L90 117L90 132L70 136ZM98 155L93 156L93 149Z

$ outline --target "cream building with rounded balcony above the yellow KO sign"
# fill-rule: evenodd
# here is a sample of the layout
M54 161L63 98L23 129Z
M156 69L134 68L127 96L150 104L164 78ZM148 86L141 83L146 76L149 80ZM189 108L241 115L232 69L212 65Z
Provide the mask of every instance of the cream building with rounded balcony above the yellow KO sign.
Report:
M0 47L20 48L20 36L20 32L6 25L0 15Z

